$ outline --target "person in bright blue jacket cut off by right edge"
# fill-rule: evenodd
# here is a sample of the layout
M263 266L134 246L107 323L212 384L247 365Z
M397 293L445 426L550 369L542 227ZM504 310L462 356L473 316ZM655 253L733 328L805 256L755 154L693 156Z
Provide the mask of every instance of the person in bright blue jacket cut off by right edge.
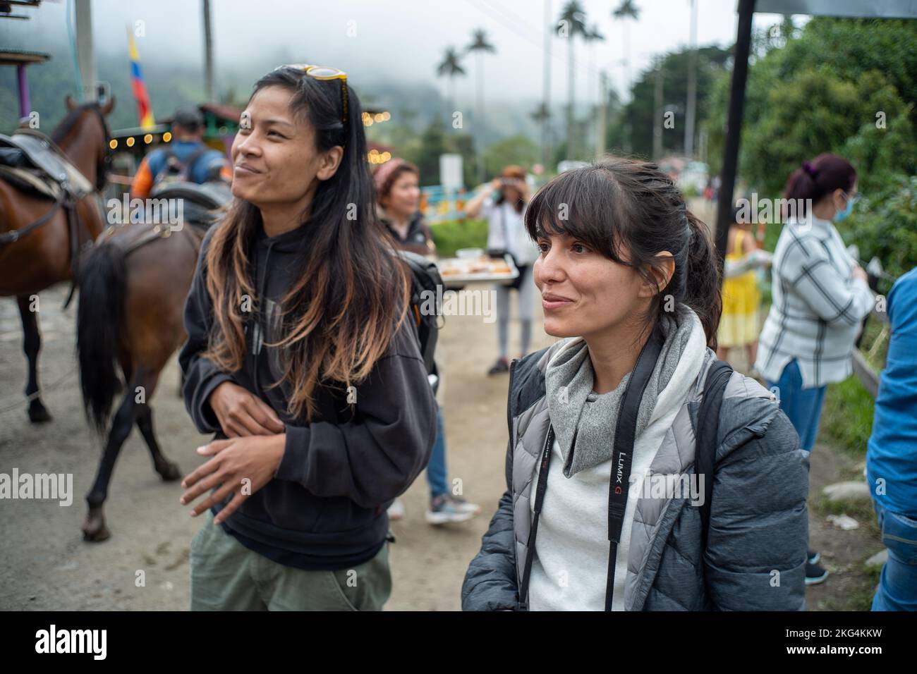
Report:
M867 484L889 559L873 611L917 611L917 267L891 288L889 355L866 453Z

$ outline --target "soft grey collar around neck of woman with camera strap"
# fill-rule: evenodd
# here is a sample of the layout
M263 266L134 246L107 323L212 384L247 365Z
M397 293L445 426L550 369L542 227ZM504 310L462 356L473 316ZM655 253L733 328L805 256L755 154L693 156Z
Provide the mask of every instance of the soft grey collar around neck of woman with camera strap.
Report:
M659 325L665 342L640 400L635 437L646 429L658 394L671 381L681 352L691 337L692 324L685 313L678 312L677 317L664 315ZM612 458L618 410L632 373L624 375L612 392L602 395L592 392L592 361L585 341L563 350L547 365L547 410L564 457L566 477Z

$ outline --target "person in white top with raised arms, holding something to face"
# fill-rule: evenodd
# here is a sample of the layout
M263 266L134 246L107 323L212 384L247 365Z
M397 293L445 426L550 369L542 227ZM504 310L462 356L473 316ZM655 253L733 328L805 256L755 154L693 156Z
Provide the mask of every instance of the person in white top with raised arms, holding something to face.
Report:
M489 229L487 248L491 251L507 252L513 256L519 277L512 285L498 283L497 293L497 337L500 355L488 371L489 375L510 370L507 353L509 350L510 292L517 291L516 311L521 324L520 354L528 352L532 335L532 315L535 306L535 283L532 281L532 265L538 258L538 249L525 233L525 206L531 200L525 171L519 166L507 166L500 178L494 178L485 189L465 204L469 217L483 215Z

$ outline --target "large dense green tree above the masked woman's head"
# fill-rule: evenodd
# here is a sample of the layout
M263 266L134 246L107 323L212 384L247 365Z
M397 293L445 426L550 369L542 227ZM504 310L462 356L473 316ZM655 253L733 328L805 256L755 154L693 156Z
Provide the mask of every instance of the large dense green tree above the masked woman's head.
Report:
M740 173L776 196L802 160L832 151L850 159L860 190L883 173L917 170L917 22L816 17L783 46L764 43L749 66ZM731 73L714 85L711 170L721 169ZM879 112L885 128L877 127Z

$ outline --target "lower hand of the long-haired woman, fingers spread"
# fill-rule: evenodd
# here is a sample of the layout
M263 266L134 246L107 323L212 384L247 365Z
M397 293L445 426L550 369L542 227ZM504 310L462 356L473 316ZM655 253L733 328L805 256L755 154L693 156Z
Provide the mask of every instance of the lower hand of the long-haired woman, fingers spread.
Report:
M235 437L229 440L214 440L209 445L197 447L197 453L213 457L199 466L182 480L182 494L179 503L187 505L201 494L217 487L204 501L191 509L191 516L206 512L216 503L223 502L235 492L232 501L214 518L220 524L233 514L249 496L267 484L274 477L283 458L286 434L273 436Z

